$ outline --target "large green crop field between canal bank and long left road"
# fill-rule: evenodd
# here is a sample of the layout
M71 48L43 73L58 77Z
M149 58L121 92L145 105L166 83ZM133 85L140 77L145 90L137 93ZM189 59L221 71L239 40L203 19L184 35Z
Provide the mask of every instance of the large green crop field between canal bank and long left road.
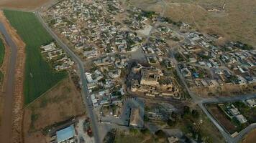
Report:
M4 14L26 44L24 104L29 104L65 78L67 74L53 71L40 54L40 46L49 44L53 39L37 20L35 14L11 10L4 10Z

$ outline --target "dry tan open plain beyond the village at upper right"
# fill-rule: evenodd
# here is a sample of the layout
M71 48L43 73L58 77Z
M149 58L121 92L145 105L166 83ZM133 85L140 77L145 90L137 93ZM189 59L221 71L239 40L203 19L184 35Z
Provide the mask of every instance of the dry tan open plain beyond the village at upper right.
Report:
M227 1L224 10L224 0L164 1L167 4L165 16L173 21L184 21L205 33L221 34L226 39L256 45L256 1ZM131 0L129 3L158 13L163 9L162 1Z

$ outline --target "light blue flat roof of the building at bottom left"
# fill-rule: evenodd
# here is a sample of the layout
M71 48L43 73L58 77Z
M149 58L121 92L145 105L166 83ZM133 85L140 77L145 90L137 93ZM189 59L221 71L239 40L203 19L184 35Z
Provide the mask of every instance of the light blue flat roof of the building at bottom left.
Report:
M75 128L74 125L71 124L70 127L66 127L65 129L60 129L56 132L58 143L63 142L67 139L70 139L75 136Z

